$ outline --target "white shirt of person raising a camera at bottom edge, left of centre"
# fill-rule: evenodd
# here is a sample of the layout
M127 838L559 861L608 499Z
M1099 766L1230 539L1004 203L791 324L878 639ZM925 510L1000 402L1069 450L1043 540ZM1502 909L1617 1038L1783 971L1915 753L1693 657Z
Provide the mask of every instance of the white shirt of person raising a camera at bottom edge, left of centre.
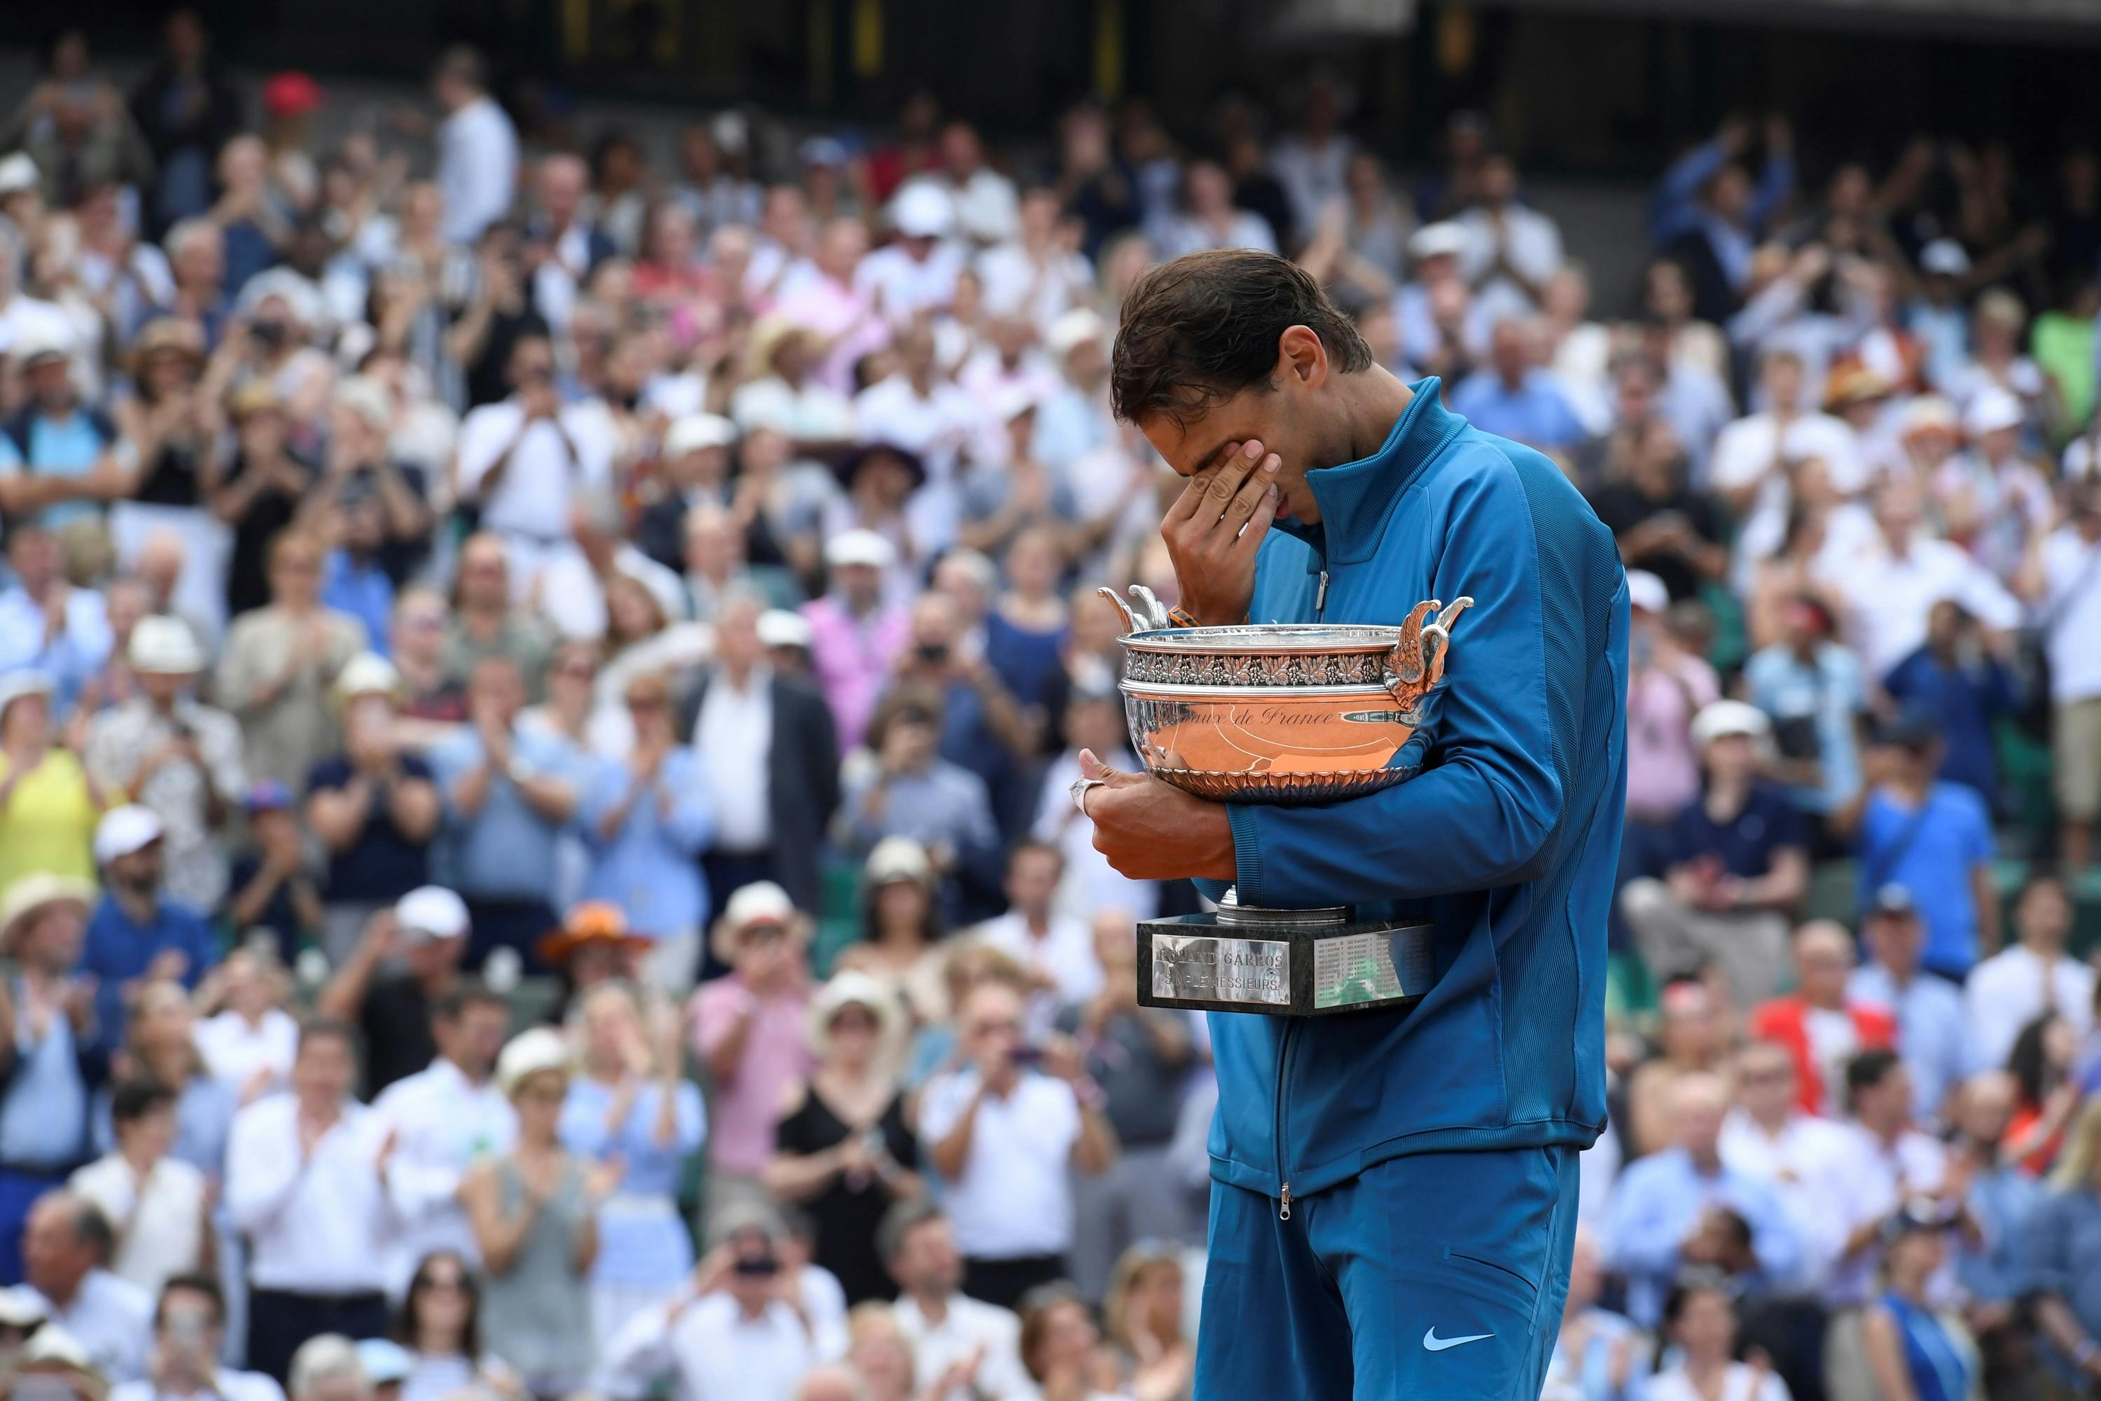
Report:
M794 1309L767 1304L744 1317L729 1294L695 1300L677 1321L643 1309L605 1344L605 1390L620 1401L647 1395L672 1372L679 1401L788 1401L824 1357Z

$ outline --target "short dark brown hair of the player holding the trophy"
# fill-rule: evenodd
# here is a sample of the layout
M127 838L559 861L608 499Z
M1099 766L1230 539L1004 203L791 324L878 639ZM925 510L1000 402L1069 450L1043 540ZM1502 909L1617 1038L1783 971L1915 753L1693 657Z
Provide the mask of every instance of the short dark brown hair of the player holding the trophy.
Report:
M1345 374L1372 365L1357 334L1303 267L1269 252L1193 252L1151 269L1124 298L1109 393L1116 416L1191 424L1212 403L1269 389L1277 338L1305 326Z

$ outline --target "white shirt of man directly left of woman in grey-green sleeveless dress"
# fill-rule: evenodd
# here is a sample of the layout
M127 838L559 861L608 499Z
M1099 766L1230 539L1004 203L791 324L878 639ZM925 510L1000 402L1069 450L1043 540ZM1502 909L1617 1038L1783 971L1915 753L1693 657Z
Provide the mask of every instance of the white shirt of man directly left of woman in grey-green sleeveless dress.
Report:
M380 1132L395 1136L387 1164L387 1201L397 1229L387 1248L387 1290L401 1296L416 1262L433 1250L456 1250L481 1262L475 1233L456 1193L477 1159L511 1151L517 1111L494 1080L471 1084L458 1065L439 1057L408 1080L397 1080L372 1103Z

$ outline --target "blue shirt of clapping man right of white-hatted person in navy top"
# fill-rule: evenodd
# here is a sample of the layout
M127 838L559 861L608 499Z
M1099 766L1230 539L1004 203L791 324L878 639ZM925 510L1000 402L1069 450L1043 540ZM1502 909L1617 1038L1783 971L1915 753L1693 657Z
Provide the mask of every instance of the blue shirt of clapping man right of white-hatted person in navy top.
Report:
M508 773L492 773L481 809L460 811L460 779L485 756L481 735L464 729L431 746L431 773L445 804L439 828L439 884L469 899L555 899L555 849L567 823L548 821ZM534 775L580 781L584 765L565 741L536 729L511 731L511 758Z

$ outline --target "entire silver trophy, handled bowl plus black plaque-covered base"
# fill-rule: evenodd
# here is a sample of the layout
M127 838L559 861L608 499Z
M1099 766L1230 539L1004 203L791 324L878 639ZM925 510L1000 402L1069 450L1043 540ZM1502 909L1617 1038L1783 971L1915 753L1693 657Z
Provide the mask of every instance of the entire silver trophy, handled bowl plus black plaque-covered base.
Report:
M1177 628L1147 588L1124 615L1124 716L1156 777L1219 802L1332 802L1403 781L1395 754L1422 727L1452 624L1473 605L1418 603L1397 628ZM1435 615L1435 618L1433 618ZM1084 792L1076 794L1084 798ZM1084 811L1084 804L1082 804ZM1357 920L1347 905L1216 912L1139 924L1139 1002L1319 1017L1414 1006L1431 926Z

